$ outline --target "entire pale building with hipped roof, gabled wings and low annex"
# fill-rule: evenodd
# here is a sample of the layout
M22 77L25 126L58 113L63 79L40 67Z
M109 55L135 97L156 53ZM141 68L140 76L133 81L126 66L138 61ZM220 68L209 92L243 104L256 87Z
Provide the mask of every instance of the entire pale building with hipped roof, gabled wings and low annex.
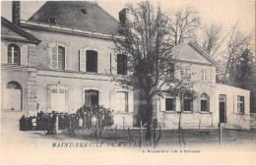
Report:
M118 25L94 2L46 2L28 21L20 21L20 2L13 2L13 22L1 19L2 113L18 118L39 111L74 113L86 103L113 109L118 127L137 126L138 92L110 77L126 74L126 56L113 51L111 40ZM187 73L195 73L191 79L199 95L183 100L182 126L217 128L221 120L226 127L250 128L250 92L216 83L216 62L196 44L173 50ZM154 105L154 118L176 129L179 98L158 98Z

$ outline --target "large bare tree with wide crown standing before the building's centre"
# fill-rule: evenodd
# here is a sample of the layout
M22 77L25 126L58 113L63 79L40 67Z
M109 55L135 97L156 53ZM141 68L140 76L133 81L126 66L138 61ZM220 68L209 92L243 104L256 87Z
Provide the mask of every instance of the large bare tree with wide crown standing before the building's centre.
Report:
M127 75L111 75L113 81L140 90L145 104L147 134L152 139L153 104L158 96L191 89L190 79L178 77L180 65L172 52L168 17L149 1L127 5L130 19L121 24L121 37L113 37L115 51L127 55Z

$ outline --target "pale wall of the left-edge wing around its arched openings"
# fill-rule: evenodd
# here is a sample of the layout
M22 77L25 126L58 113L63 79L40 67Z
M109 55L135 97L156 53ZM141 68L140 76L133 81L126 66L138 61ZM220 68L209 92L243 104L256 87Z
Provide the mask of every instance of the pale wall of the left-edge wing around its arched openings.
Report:
M22 85L23 94L23 112L28 115L29 111L36 110L36 69L35 69L35 45L20 41L1 40L2 46L5 47L5 53L1 54L1 89L2 105L4 107L4 90L9 82L17 82ZM15 43L20 47L21 65L7 63L7 46ZM26 49L24 47L27 46ZM3 47L2 47L3 48ZM2 50L3 51L3 50ZM10 113L9 113L10 114Z

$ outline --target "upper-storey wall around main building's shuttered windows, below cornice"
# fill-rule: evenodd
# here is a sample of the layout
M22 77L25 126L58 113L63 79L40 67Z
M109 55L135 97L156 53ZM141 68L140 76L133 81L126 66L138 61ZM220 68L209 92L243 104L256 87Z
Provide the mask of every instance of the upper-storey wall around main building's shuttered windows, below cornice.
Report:
M99 39L96 37L85 37L76 34L59 33L56 31L35 30L30 32L41 40L36 48L37 54L37 68L48 69L49 67L49 55L48 44L49 43L61 43L68 47L71 47L72 52L72 71L79 72L79 50L86 47L93 47L98 51L101 51L104 58L104 69L107 74L110 72L110 54L113 53L113 42L106 39Z

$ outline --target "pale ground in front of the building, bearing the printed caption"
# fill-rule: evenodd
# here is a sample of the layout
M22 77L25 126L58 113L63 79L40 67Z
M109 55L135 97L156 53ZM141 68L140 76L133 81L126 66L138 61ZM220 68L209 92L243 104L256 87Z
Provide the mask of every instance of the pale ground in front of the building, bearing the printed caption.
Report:
M1 120L2 164L73 164L77 161L124 163L123 160L132 163L256 162L255 130L224 130L221 146L218 130L184 130L186 145L181 147L176 130L163 131L159 146L154 148L145 140L143 147L140 147L138 130L130 132L130 140L127 130L104 131L102 138L96 140L95 131L78 131L75 138L71 138L67 132L46 136L40 131L21 132L17 122L8 122Z

